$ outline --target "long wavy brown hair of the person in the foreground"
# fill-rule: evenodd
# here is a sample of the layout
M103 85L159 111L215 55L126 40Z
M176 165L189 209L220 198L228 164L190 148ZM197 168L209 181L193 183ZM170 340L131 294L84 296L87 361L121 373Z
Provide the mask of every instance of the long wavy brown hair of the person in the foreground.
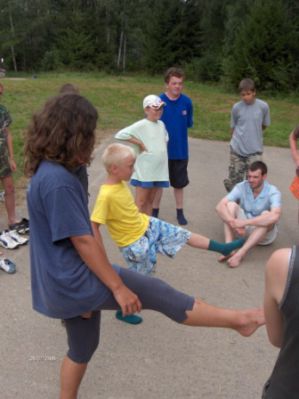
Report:
M43 160L72 170L90 162L95 142L98 113L78 94L60 95L48 100L36 113L27 130L25 171L36 172Z

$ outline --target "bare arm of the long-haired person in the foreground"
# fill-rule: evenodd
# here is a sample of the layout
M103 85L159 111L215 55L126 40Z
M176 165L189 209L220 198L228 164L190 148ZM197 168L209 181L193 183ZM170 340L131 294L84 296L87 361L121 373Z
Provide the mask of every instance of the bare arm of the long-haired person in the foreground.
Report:
M124 316L140 312L141 302L111 266L104 247L92 235L70 237L81 259L112 292Z

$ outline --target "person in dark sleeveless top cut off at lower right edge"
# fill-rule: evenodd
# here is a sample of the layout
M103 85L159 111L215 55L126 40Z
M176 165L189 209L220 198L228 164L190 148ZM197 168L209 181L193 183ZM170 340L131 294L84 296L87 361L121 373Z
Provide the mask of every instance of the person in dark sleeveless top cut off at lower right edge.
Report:
M266 266L264 310L269 341L280 348L263 399L299 396L299 247L275 251Z

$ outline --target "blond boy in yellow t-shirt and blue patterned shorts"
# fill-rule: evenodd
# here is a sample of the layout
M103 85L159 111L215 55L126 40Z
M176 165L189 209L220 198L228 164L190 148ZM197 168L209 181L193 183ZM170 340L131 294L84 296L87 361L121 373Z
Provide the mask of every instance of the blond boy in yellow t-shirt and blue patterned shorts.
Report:
M102 242L99 227L106 224L130 269L150 274L157 263L157 253L174 257L185 244L227 255L244 243L244 239L239 239L222 244L139 212L126 183L134 170L133 150L114 143L105 149L102 159L107 178L91 215L93 233Z

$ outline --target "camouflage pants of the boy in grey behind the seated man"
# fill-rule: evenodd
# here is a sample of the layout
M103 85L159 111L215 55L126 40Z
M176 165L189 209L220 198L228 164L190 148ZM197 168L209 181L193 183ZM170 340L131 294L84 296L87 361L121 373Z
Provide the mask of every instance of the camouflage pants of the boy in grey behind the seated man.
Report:
M228 167L228 178L223 180L224 187L230 192L237 183L240 183L247 177L249 165L255 161L261 161L262 154L255 153L243 157L230 150L230 163Z

